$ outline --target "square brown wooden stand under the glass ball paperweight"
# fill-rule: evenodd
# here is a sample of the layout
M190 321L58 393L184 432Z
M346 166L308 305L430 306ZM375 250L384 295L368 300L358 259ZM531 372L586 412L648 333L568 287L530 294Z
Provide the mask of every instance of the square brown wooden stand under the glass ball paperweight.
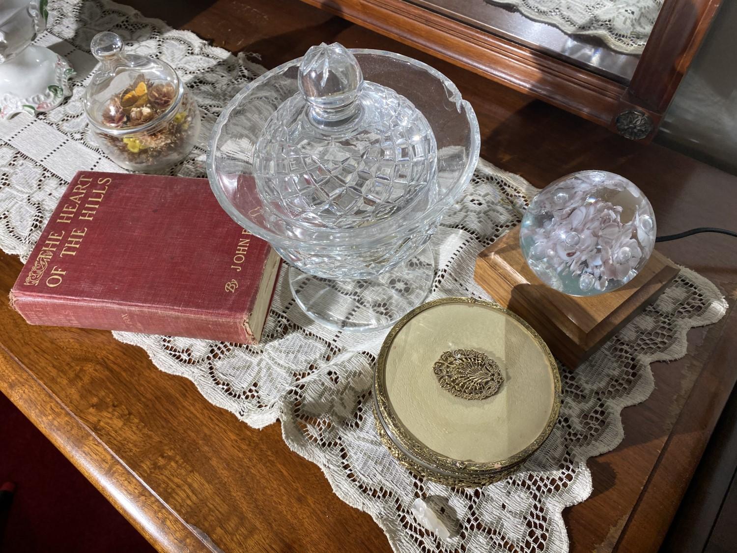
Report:
M568 296L543 284L528 267L517 227L478 255L475 279L500 305L531 324L553 355L573 369L654 302L678 271L653 251L640 274L621 288L599 296Z

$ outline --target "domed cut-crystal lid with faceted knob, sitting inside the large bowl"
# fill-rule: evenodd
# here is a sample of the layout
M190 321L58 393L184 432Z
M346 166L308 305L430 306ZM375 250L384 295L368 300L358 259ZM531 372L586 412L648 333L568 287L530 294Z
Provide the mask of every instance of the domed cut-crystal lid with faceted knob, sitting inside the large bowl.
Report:
M410 100L363 80L354 55L337 43L307 51L298 88L270 116L254 151L256 188L270 215L345 230L433 203L436 138Z

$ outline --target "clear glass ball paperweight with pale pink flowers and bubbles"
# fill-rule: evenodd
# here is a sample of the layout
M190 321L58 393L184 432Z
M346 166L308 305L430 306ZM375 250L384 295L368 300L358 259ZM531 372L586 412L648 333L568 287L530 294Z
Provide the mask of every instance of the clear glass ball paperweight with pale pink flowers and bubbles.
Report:
M579 171L553 181L522 219L520 247L542 282L570 296L625 285L655 243L655 215L642 190L608 171Z

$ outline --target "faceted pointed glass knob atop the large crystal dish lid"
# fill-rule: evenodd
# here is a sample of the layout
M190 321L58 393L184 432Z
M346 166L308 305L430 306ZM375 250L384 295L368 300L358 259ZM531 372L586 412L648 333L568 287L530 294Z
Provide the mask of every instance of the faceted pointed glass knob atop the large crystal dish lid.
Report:
M318 125L346 122L358 111L363 73L354 55L342 44L312 46L299 66L299 90Z

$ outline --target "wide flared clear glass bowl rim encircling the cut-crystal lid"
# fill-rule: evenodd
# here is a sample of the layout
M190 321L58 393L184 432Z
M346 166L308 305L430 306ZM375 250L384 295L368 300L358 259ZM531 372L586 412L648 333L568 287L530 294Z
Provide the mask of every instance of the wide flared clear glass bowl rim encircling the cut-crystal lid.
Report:
M437 141L435 197L359 229L305 226L273 216L274 206L263 198L262 185L256 186L254 157L268 120L284 102L300 93L298 73L304 58L283 63L248 83L220 113L208 147L207 173L212 191L228 215L279 248L290 262L304 254L318 254L318 250L324 253L325 248L351 248L357 236L368 251L385 237L425 232L458 198L478 161L478 122L472 106L452 81L426 63L392 52L350 52L367 81L402 94L430 122Z

